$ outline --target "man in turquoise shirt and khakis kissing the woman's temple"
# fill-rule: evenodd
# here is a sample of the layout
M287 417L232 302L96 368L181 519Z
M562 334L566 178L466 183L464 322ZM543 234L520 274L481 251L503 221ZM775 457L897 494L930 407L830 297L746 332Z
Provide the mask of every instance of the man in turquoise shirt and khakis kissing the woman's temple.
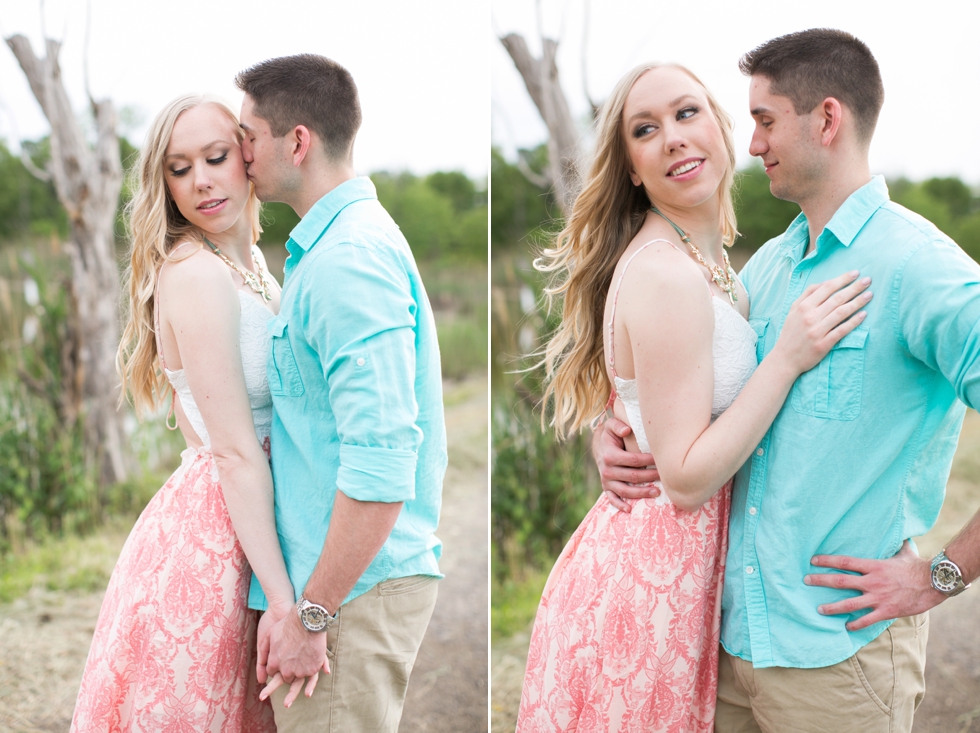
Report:
M302 217L268 363L276 523L302 595L294 612L263 616L258 681L310 677L326 654L312 697L286 708L286 688L273 693L278 729L394 733L441 577L435 324L408 243L355 177L361 113L347 70L304 54L236 83L256 194Z

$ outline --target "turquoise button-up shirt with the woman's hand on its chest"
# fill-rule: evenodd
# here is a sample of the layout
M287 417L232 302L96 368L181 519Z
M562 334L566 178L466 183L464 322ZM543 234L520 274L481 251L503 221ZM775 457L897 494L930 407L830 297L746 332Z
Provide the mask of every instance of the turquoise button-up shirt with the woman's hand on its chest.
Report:
M847 631L804 585L817 554L885 558L939 515L965 402L980 405L980 267L884 179L855 191L804 256L800 214L741 276L760 360L793 301L848 270L872 277L864 323L796 381L732 494L722 644L756 667L825 667L890 622ZM831 571L834 572L834 571Z

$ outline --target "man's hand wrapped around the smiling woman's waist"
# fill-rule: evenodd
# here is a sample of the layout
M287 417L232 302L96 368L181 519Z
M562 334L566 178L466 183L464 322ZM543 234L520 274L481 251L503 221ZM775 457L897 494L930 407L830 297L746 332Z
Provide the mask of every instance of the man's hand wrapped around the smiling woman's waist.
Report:
M592 457L599 467L602 490L621 512L632 509L627 499L650 499L660 495L660 489L653 485L654 481L660 480L653 456L626 450L623 438L631 432L629 425L611 417L592 436Z

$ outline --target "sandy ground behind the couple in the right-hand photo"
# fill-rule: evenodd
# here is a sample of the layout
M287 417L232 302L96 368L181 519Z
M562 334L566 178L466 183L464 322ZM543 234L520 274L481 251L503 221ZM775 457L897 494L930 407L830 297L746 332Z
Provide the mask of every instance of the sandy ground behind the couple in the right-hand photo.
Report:
M954 477L946 490L939 521L917 540L919 553L932 557L980 508L980 415L967 413ZM926 696L916 712L913 733L980 733L980 582L930 611ZM516 634L491 648L491 733L514 730L527 661L529 632Z

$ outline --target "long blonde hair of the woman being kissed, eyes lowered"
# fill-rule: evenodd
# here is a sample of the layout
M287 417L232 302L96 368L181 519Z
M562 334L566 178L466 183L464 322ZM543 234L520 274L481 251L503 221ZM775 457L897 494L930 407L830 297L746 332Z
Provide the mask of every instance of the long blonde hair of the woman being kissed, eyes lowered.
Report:
M130 174L133 198L126 207L129 228L129 307L126 327L116 352L116 371L122 380L122 394L129 395L138 415L155 410L166 396L167 380L157 359L154 321L156 282L164 262L173 261L177 244L191 241L203 246L202 232L177 209L165 181L163 165L174 124L181 113L202 104L213 104L235 123L239 142L243 132L238 116L226 102L210 95L188 94L173 100L153 120L146 144ZM252 242L257 242L259 201L249 185L243 216L252 225Z

